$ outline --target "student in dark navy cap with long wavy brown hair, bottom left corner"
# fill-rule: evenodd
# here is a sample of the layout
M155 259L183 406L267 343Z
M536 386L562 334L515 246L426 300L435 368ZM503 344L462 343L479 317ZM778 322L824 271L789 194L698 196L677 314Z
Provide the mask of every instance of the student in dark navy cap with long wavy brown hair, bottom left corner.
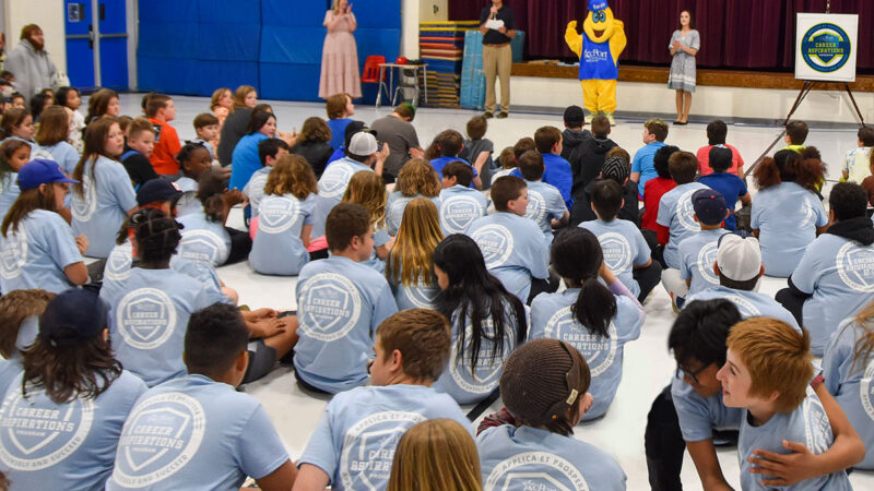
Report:
M103 489L109 479L121 426L145 385L113 357L106 318L94 291L58 295L39 316L24 369L0 380L12 489Z

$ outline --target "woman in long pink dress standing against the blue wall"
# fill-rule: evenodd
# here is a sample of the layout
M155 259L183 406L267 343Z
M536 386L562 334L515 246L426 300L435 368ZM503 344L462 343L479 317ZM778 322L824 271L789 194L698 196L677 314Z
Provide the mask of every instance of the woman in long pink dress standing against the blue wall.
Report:
M358 98L362 96L358 48L352 35L358 23L352 13L352 4L347 0L334 0L334 8L324 14L323 25L328 27L328 35L321 55L319 97L327 99L346 93Z

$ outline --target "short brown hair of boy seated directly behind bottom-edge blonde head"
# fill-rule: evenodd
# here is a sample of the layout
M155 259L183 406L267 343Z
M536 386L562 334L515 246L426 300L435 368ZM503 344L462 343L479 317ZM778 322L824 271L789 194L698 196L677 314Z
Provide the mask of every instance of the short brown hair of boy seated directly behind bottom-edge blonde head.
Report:
M434 310L410 309L395 313L379 324L376 335L385 352L383 359L395 349L400 351L403 372L413 380L436 381L449 361L449 321Z

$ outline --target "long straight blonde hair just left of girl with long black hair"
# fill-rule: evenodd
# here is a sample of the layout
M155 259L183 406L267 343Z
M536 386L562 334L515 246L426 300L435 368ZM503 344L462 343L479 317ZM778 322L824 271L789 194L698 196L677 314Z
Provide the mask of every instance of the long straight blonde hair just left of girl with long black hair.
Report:
M427 197L416 197L408 203L389 258L389 279L405 286L433 283L434 250L441 240L444 233L437 206Z

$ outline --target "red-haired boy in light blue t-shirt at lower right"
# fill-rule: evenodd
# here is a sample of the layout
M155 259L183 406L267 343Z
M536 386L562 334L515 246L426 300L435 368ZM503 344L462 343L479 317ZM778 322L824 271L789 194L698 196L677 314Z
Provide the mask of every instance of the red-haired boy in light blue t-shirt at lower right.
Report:
M820 454L834 442L828 415L807 386L813 378L808 333L799 333L775 319L749 319L735 324L725 342L725 364L717 373L722 402L741 408L741 487L769 486L770 476L754 476L751 463L760 452L784 453L787 440L813 443ZM857 436L858 438L858 436ZM860 457L858 460L861 460ZM847 472L838 470L805 479L793 489L851 490Z

